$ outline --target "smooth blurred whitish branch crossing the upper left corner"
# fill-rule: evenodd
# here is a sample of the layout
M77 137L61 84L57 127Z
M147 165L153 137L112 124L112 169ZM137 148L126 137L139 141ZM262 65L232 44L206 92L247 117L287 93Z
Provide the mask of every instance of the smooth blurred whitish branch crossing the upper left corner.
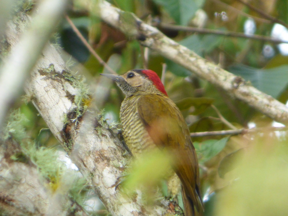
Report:
M13 3L14 1L10 2L10 4ZM5 63L0 68L0 127L7 110L10 108L9 105L19 96L25 79L29 76L41 50L57 26L66 5L67 0L43 0L37 8L34 8L29 26L26 26L27 20L22 22L19 20L19 22L14 23L14 29L10 29L12 34L8 37L10 41L14 41L14 49L9 52L5 58ZM27 27L28 29L23 31ZM18 35L19 38L15 38L13 34L19 33L19 31L21 35ZM2 40L2 35L0 37ZM6 46L8 45L6 44Z

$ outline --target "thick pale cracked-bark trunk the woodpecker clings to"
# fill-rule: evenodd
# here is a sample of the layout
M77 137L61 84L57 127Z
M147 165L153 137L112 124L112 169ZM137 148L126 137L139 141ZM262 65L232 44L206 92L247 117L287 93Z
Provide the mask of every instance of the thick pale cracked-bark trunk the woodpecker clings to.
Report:
M24 15L9 25L6 43L11 52L17 47L18 34L24 31L21 26L25 25L19 22L25 23L27 20L29 18ZM77 118L77 111L81 112L83 107L75 104L75 97L85 87L76 82L54 46L48 44L31 72L25 91L109 213L119 216L176 214L170 211L174 203L169 200L163 199L154 206L145 206L140 190L133 197L115 190L117 178L121 176L127 161L123 156L125 150L107 124L97 118L96 108L89 107L83 116L78 115Z

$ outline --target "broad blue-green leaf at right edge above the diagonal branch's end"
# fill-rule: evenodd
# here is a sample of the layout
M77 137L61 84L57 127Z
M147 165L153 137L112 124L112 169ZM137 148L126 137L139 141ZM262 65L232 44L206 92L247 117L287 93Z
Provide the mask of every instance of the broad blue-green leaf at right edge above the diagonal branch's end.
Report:
M237 64L230 67L229 71L249 80L255 88L274 98L277 98L288 84L288 65L271 69L257 69Z

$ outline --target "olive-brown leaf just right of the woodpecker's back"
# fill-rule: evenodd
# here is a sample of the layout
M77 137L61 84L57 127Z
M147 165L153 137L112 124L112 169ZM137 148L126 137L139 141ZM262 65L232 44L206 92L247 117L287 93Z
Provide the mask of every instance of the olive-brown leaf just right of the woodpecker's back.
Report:
M203 113L207 107L210 107L213 104L214 98L184 98L180 101L175 102L177 107L180 110L189 109L190 107L194 107L193 111L190 111L192 115L199 115Z

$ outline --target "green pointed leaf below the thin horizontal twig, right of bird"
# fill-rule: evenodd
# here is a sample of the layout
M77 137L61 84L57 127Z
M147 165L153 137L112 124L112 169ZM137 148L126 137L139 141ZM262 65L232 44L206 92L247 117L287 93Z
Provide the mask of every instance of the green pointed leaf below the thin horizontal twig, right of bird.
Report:
M194 142L193 145L196 149L199 163L203 164L216 156L225 147L229 138L225 137L220 140L209 139L202 143Z

